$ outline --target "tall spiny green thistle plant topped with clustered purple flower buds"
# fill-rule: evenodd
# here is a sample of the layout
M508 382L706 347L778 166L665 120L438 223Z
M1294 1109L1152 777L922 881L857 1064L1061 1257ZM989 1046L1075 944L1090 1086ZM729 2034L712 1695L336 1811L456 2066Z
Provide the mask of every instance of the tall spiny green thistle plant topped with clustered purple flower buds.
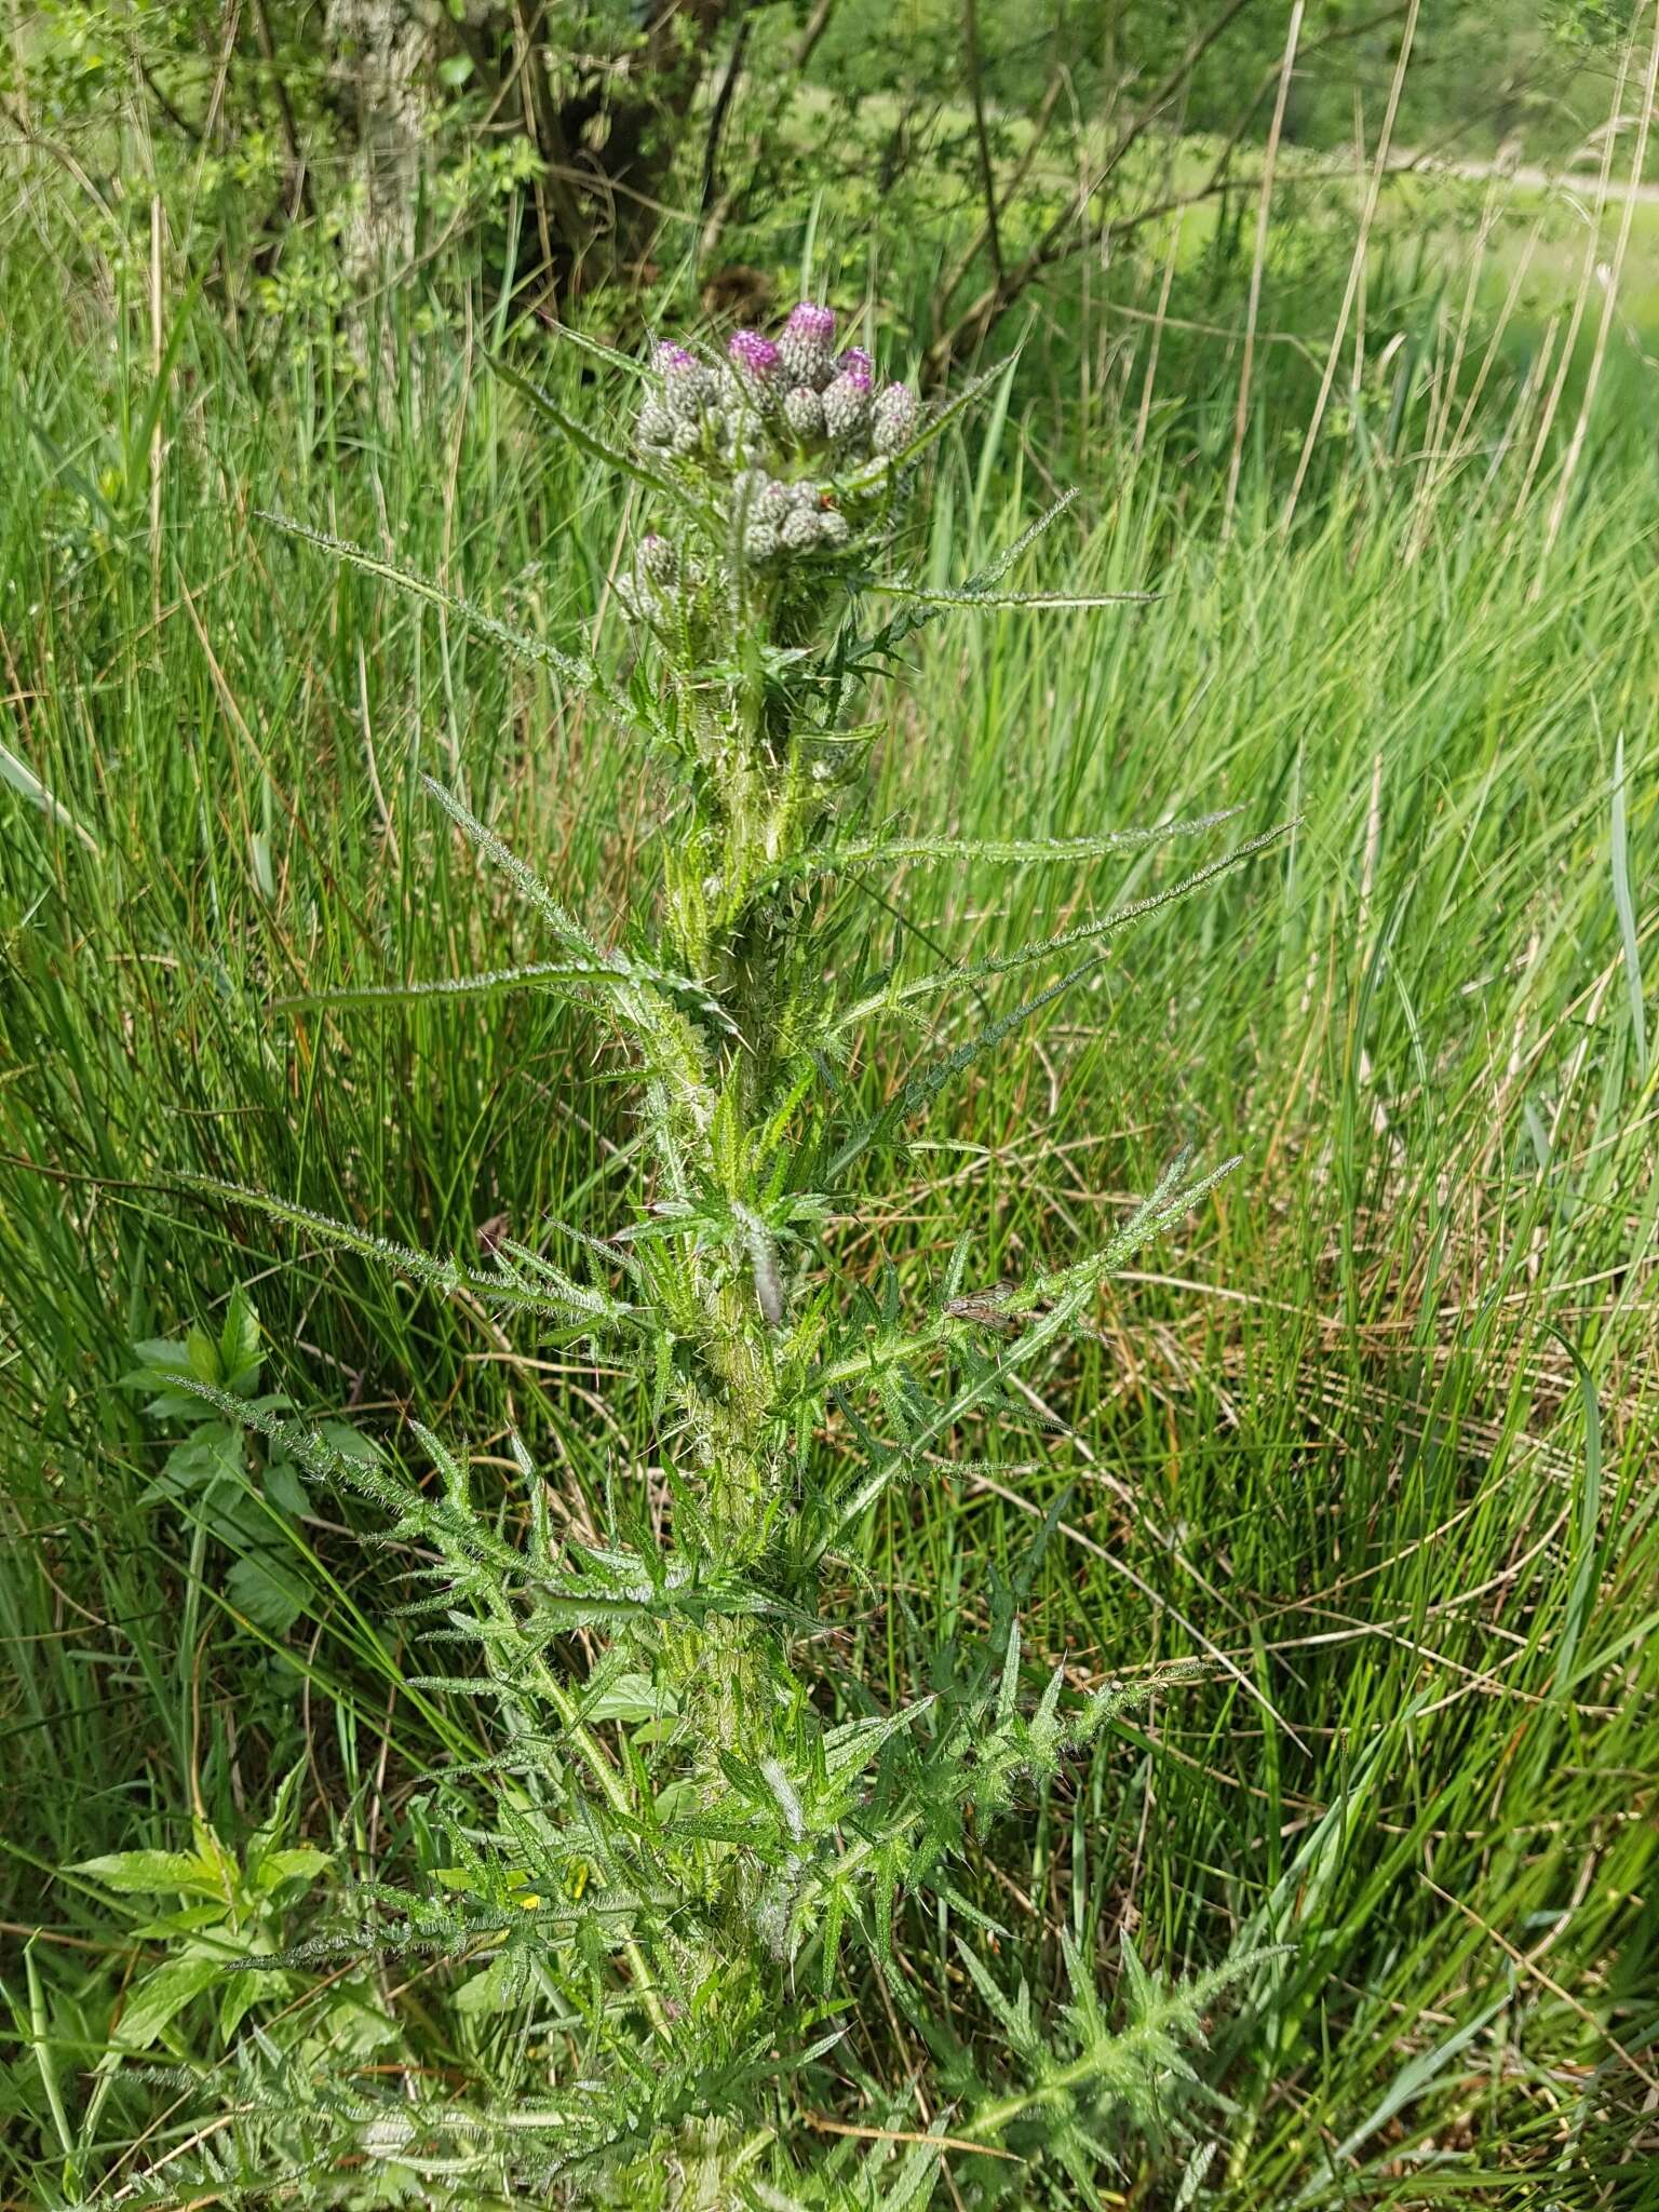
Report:
M1179 1161L1099 1250L993 1290L973 1237L933 1283L849 1281L836 1225L856 1221L860 1190L947 1082L1086 978L1137 914L1265 838L1040 942L931 971L867 967L845 929L860 885L911 867L1077 865L1221 816L1002 843L872 827L867 692L922 626L958 608L1108 604L1004 588L1066 502L980 575L925 588L907 546L929 447L984 385L925 409L869 352L838 347L816 303L723 354L661 343L635 363L573 343L633 392L626 427L593 429L502 374L553 436L635 484L626 677L288 529L551 664L655 763L659 887L622 942L434 785L529 902L546 956L429 989L555 991L593 1009L635 1084L637 1181L617 1217L546 1223L473 1265L259 1203L487 1301L526 1338L593 1347L639 1378L644 1447L577 1540L549 1522L533 1436L513 1440L522 1493L502 1513L465 1451L425 1429L422 1480L405 1480L226 1400L268 1420L312 1478L387 1509L422 1559L414 1626L449 1655L418 1679L487 1699L498 1756L431 1778L431 1880L352 1891L341 1924L272 1962L292 1975L411 1953L429 1991L431 1958L453 1960L445 2002L493 2024L489 2066L330 2073L314 2048L301 2064L254 2037L217 2185L281 2177L294 2203L703 2212L1093 2203L1144 2157L1135 2146L1161 2146L1177 2174L1188 2161L1188 2053L1239 1962L1168 1984L1128 1949L1102 1960L1066 1938L1068 1997L1040 2008L962 1885L998 1816L1035 1803L1130 1692L1031 1681L1011 1599L989 1606L980 1650L898 1705L847 1672L838 1630L849 1606L883 1604L860 1568L878 1500L933 1480L929 1464L987 1422L1029 1427L1020 1380L1053 1365L1106 1279L1225 1168ZM883 1091L858 1066L896 1029L907 1075ZM922 1924L949 1929L949 2004L907 1960ZM422 2013L436 2002L422 1995Z

